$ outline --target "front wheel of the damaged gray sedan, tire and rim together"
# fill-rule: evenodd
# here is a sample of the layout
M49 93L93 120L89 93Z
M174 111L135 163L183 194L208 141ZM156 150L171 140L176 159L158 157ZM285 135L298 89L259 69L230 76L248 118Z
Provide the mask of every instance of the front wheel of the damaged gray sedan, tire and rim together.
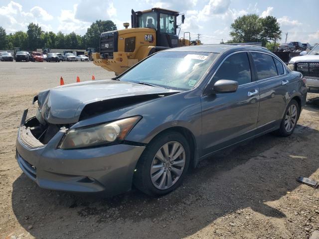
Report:
M175 159L175 162L174 159L165 156L163 149L165 145L167 145L168 155L172 153L172 150L175 154L179 154L183 150ZM158 155L163 156L161 160ZM190 148L185 137L175 131L160 133L148 144L141 155L136 166L133 183L137 189L152 197L165 195L175 190L182 183L189 162ZM151 173L151 168L154 170L153 173ZM170 175L171 181L168 179L168 175Z

